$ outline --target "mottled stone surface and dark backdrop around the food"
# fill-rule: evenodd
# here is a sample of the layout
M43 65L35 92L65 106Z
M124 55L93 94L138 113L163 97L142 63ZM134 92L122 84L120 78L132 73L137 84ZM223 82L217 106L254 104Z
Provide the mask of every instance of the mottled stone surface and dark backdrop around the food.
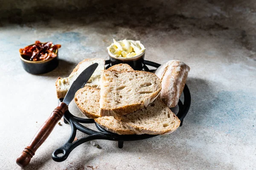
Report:
M141 40L147 60L190 66L183 126L122 149L85 143L57 163L51 154L70 135L62 122L24 169L256 169L255 24L253 0L0 0L0 169L21 169L15 159L56 107L56 78L84 58L107 59L112 38ZM18 49L35 40L62 45L57 69L23 70ZM82 116L73 103L70 109Z

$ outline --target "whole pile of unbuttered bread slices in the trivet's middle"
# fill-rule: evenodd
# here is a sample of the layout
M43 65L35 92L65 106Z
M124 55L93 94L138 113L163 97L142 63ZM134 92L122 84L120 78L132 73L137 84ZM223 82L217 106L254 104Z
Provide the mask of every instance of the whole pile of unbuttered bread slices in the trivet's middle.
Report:
M76 92L75 102L87 117L95 118L101 127L119 135L173 132L180 120L160 99L154 100L161 89L159 79L147 73L134 71L127 64L112 66L102 72L101 90L84 87ZM105 92L111 95L103 96Z

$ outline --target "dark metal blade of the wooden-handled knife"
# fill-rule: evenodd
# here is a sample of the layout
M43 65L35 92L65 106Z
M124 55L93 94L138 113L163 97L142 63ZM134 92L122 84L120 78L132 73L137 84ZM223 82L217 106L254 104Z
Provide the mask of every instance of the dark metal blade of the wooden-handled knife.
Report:
M93 75L93 72L96 70L98 63L94 63L90 66L88 66L86 69L84 69L83 72L76 78L76 80L73 82L73 84L70 86L70 89L67 91L67 94L64 97L63 102L67 105L70 104L70 102L73 100L77 90L84 87L84 85L87 83L87 81L90 79L90 77Z

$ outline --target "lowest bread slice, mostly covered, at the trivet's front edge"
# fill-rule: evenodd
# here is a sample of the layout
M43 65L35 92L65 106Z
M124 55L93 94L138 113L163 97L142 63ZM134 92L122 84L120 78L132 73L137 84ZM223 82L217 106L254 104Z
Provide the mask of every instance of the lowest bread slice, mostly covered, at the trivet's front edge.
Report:
M119 135L136 134L133 130L129 130L128 128L126 128L121 121L116 120L113 116L96 118L95 121L97 122L97 124L99 124L99 126L112 133L117 133Z

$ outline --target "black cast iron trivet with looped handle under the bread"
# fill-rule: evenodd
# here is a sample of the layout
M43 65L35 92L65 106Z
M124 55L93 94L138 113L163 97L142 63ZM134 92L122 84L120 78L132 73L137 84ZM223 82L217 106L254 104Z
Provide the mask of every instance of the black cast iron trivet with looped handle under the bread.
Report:
M106 69L108 69L110 65L110 61L107 60L106 62ZM154 72L155 69L148 69L146 66L153 66L155 68L159 67L160 64L154 63L151 61L144 61L144 66L143 70L147 72ZM184 102L182 103L180 100L178 102L179 106L179 111L177 113L177 117L180 119L180 126L182 126L183 119L185 118L187 112L189 111L190 103L191 103L191 96L189 92L189 88L187 85L185 85L183 89L183 95L184 95ZM60 101L62 101L60 99ZM141 139L146 139L146 138L152 138L156 135L118 135L116 133L111 133L108 132L107 130L103 129L100 127L93 119L91 118L78 118L74 115L72 115L69 111L64 113L64 122L67 124L69 123L71 126L71 135L70 138L68 139L67 143L64 144L62 147L58 148L52 153L52 159L57 162L61 162L67 159L69 156L70 152L75 149L77 146L80 144L83 144L84 142L91 141L91 140L96 140L96 139L105 139L105 140L110 140L110 141L118 141L118 147L122 148L124 141L136 141L136 140L141 140ZM91 130L87 127L84 127L82 124L92 124L94 123L99 132L95 130ZM88 136L81 138L75 142L74 139L76 137L76 130L81 131L82 133L87 134ZM61 156L58 156L61 155Z

